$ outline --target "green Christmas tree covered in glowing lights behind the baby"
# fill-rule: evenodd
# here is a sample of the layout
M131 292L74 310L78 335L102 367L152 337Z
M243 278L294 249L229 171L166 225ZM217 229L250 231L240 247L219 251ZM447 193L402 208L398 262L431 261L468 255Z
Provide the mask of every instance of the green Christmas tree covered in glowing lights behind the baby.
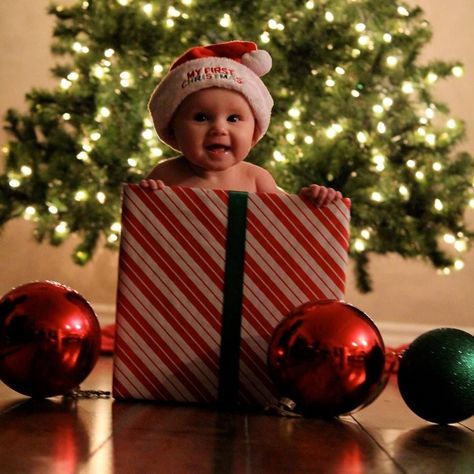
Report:
M456 151L461 120L433 85L458 62L420 64L431 29L418 7L394 0L89 0L51 6L55 90L32 90L9 110L0 176L0 226L35 222L53 245L80 236L73 258L117 247L120 193L162 159L147 113L151 91L187 48L255 41L273 57L264 80L275 100L250 161L289 192L315 182L352 199L351 257L371 289L371 253L462 267L473 238L474 160ZM452 245L452 248L447 245Z

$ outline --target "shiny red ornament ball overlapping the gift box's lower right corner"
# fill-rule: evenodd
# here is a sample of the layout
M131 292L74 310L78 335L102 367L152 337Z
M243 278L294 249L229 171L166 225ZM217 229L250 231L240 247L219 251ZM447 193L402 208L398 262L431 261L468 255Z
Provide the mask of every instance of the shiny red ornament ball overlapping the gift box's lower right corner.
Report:
M385 346L372 320L336 300L293 310L275 329L270 377L307 416L348 414L371 403L388 381Z

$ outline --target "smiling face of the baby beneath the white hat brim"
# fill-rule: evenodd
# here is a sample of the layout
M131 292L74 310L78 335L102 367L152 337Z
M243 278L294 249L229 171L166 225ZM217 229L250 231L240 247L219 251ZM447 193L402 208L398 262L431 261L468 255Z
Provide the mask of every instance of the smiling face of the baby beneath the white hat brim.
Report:
M229 89L202 89L186 97L172 128L177 148L192 165L208 171L240 163L255 144L250 105Z

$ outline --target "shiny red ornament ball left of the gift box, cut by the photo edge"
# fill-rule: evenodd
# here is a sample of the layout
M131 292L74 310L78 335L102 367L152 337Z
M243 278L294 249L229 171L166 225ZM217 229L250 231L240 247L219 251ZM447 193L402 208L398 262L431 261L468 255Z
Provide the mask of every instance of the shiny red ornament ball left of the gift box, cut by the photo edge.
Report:
M0 379L19 393L64 395L89 375L99 349L93 309L65 285L27 283L0 300Z

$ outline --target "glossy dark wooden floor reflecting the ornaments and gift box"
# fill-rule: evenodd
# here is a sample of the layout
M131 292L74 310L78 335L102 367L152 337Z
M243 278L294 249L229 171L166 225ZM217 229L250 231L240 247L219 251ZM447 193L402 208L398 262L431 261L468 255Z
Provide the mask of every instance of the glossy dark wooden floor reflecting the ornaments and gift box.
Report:
M103 357L82 389L109 390ZM433 425L395 378L369 407L332 421L112 399L32 400L0 383L0 472L474 473L474 419Z

